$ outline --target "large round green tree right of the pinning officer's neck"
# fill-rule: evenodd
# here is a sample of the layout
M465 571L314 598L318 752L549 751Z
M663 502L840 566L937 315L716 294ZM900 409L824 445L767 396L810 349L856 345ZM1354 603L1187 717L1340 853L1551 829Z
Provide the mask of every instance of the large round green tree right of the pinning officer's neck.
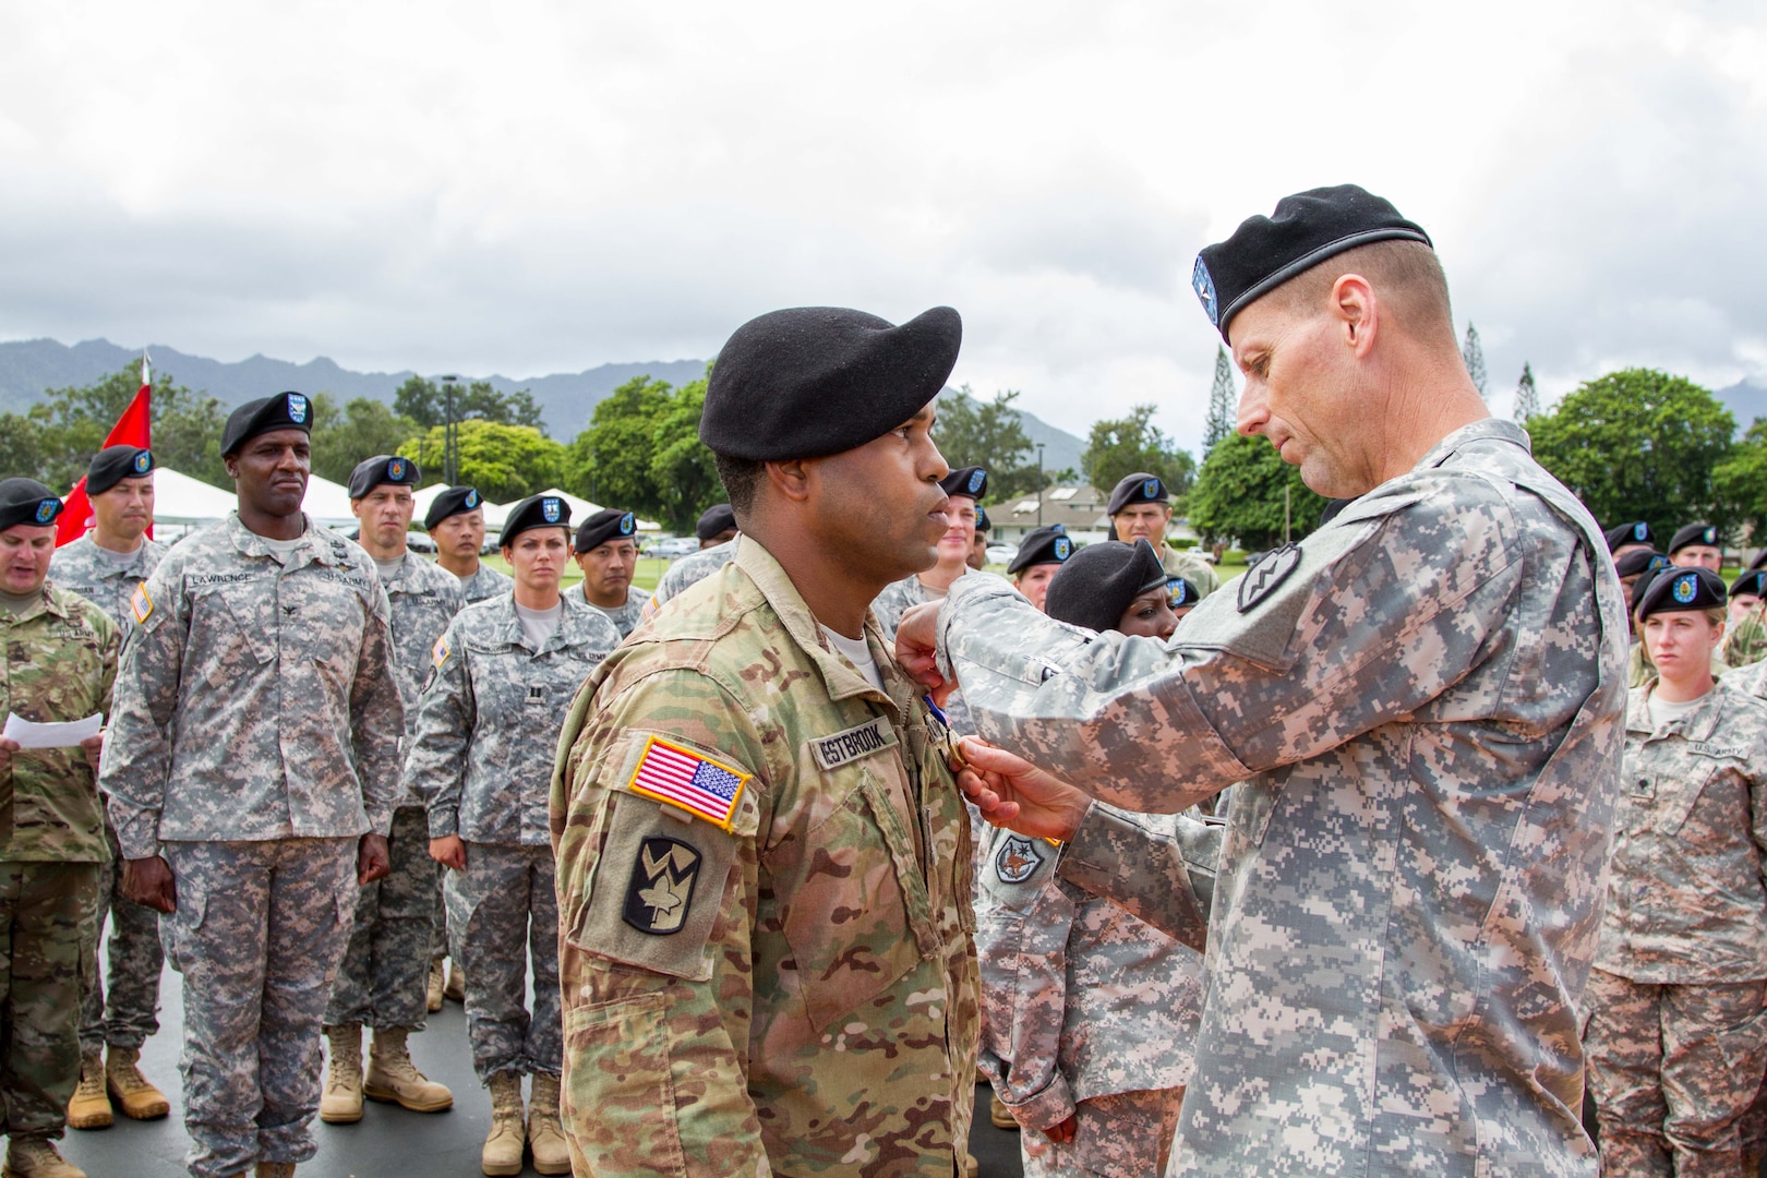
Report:
M1528 420L1534 457L1608 525L1647 519L1659 533L1705 519L1739 519L1714 484L1737 422L1718 397L1682 376L1629 367L1583 381Z

